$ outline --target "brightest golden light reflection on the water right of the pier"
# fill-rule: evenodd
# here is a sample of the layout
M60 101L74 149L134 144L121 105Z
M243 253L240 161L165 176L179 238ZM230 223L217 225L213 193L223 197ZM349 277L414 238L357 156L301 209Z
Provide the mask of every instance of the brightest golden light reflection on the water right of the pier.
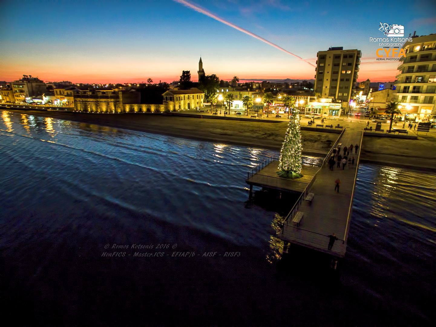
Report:
M373 206L371 213L375 217L388 217L386 210L388 207L388 199L392 191L396 189L396 180L401 169L392 167L383 167L379 171L380 179L379 183L375 186L375 192L373 193ZM377 221L380 223L380 221ZM378 226L377 224L375 226Z

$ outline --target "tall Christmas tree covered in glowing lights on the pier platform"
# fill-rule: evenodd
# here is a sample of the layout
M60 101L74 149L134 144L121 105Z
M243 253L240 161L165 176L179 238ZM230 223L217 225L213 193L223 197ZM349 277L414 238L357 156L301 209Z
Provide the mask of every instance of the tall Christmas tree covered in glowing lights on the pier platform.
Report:
M300 114L294 107L292 108L292 116L289 120L288 130L285 134L282 150L279 158L279 172L277 175L285 178L300 178L301 175L301 130L300 130Z

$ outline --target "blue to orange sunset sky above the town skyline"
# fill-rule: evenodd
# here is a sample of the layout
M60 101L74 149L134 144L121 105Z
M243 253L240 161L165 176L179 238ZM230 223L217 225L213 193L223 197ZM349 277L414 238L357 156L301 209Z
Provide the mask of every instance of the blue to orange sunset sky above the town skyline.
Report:
M191 4L191 5L189 5ZM200 9L195 9L200 7ZM201 12L199 12L201 11ZM219 17L218 21L211 16ZM393 81L398 62L376 62L379 22L436 33L434 1L1 1L0 80L23 74L73 83L313 79L318 51L362 51L358 80ZM226 24L227 23L227 24ZM228 24L233 24L229 26ZM307 62L241 31L258 35Z

